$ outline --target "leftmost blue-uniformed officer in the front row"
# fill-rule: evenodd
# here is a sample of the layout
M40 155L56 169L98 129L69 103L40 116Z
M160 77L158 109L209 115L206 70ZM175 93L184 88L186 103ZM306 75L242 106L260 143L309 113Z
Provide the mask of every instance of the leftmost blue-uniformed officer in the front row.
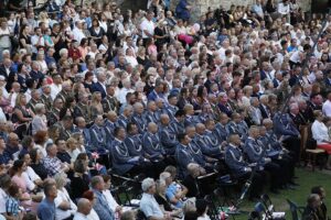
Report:
M124 143L126 131L121 127L114 130L115 139L111 142L110 153L114 170L119 175L131 174L137 175L145 173L148 177L156 177L152 167L148 166L143 157L130 156L129 150Z

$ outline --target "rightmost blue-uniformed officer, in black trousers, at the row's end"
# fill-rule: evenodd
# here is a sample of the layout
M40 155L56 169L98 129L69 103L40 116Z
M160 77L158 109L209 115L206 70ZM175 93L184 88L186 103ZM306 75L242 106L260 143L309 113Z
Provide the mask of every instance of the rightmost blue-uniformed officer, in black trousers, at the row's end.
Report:
M276 113L274 128L276 135L280 138L285 147L293 153L295 162L299 163L301 136L288 113Z

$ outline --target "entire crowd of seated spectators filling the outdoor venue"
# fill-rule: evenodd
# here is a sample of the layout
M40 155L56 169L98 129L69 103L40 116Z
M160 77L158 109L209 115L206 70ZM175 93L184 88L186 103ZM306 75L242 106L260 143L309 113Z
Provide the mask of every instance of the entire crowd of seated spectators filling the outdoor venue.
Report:
M296 0L199 21L186 0L4 2L0 218L135 219L115 178L141 184L149 219L209 219L225 177L250 200L296 189L313 142L331 168L330 15Z

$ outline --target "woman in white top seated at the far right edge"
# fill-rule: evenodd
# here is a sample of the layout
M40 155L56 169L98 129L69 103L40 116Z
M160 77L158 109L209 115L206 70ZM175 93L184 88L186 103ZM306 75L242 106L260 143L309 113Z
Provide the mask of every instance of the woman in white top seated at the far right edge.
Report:
M323 148L328 153L327 168L331 169L331 139L328 133L328 128L323 123L323 113L320 110L313 112L314 122L311 125L312 138L317 141L318 148Z

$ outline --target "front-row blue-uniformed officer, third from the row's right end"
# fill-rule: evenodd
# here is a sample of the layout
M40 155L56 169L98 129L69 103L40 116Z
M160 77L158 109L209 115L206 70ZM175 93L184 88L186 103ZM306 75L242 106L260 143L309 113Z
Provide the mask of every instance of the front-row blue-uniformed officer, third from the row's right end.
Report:
M246 153L248 161L250 163L257 163L257 165L263 166L265 170L270 173L270 191L279 194L278 189L282 185L280 166L273 163L265 154L266 152L263 150L263 144L257 140L259 136L259 128L255 125L250 127L248 134L249 136L247 138L244 146L244 152Z

